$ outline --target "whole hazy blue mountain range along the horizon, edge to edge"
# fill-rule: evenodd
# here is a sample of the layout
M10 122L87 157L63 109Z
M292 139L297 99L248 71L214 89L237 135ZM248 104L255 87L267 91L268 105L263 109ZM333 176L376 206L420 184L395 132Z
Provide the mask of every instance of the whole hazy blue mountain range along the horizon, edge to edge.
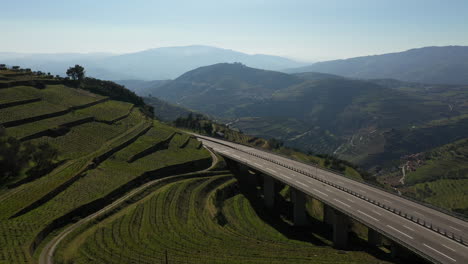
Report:
M107 80L167 80L198 67L240 62L249 67L285 73L314 72L353 79L397 79L429 84L468 84L468 47L424 47L403 52L316 62L245 54L210 46L163 47L128 54L1 53L0 63L21 65L54 75L83 65L88 76ZM310 76L309 76L310 77Z

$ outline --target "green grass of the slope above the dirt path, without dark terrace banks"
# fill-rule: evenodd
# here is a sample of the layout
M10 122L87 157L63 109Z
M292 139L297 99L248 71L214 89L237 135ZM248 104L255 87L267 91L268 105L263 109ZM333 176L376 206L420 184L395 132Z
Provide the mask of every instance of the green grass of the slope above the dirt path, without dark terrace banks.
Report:
M13 81L21 78L47 80L45 77L28 74L12 76L10 73L0 72L0 75ZM0 109L0 123L54 113L104 98L60 84L47 85L43 90L30 86L2 88L0 94L5 95L1 97L1 103L31 97L41 99L39 102ZM143 151L148 145L156 144L177 130L152 121L129 103L112 100L58 117L8 127L7 133L22 138L90 116L94 117L93 122L72 126L63 135L29 140L33 143L49 142L59 150L60 158L65 162L50 174L33 182L13 189L3 187L0 190L0 263L34 262L30 255L30 245L46 225L79 206L106 196L144 172L210 157L204 149L199 149L199 144L194 139L190 139L189 144L181 148L188 136L177 134L166 149L128 163L131 155ZM111 122L116 119L119 120ZM126 142L132 144L126 146ZM97 165L89 166L93 159L119 146L126 147L118 148L110 157L101 158ZM66 184L72 179L72 184ZM51 195L54 190L55 193ZM12 218L18 212L21 212L19 216Z

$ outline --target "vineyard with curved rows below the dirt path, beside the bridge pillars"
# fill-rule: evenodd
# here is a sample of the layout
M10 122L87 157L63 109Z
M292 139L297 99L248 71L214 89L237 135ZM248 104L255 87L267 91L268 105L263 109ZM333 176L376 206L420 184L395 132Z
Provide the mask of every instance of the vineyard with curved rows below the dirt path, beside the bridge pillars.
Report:
M311 239L310 230L271 224L261 201L240 193L232 175L202 176L161 183L77 230L62 243L59 263L166 263L166 255L167 263L387 263L363 251L339 252L321 235Z

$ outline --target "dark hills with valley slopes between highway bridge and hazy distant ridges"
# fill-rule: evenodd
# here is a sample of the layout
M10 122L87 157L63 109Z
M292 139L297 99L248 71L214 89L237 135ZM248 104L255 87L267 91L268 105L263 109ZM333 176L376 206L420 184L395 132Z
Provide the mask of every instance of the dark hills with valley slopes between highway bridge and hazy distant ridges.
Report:
M187 72L153 94L247 134L368 168L465 133L467 86L308 76L215 64Z

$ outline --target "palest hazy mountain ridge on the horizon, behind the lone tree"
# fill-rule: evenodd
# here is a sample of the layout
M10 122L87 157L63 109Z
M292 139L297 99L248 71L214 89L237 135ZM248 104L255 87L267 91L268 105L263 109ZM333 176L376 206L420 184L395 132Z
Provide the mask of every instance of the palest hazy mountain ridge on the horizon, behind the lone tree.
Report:
M63 75L69 65L80 64L87 74L105 80L166 80L197 67L221 62L280 70L305 64L290 59L255 54L249 55L210 46L181 46L149 49L127 54L18 54L0 53L0 63L21 65L43 72ZM145 94L147 96L148 94Z

